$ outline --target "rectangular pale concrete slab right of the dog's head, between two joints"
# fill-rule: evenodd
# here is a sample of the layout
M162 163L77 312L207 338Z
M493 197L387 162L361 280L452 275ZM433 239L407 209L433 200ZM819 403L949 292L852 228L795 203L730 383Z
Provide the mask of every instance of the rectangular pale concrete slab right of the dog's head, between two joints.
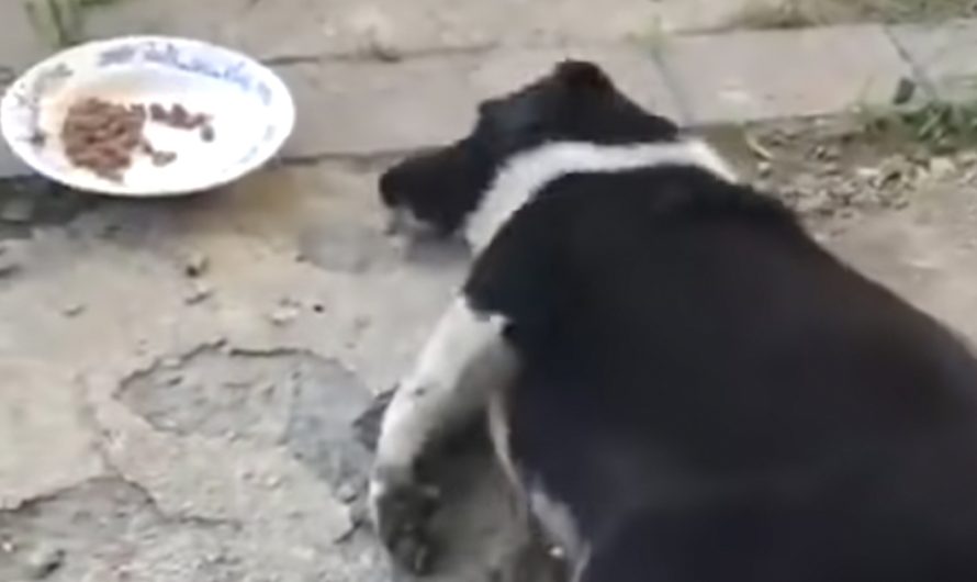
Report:
M912 77L874 24L676 37L660 58L696 124L886 109Z

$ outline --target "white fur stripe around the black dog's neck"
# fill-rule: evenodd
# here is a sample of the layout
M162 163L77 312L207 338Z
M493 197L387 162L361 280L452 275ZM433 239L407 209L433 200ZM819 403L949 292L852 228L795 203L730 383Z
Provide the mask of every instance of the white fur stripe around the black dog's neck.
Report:
M482 250L495 232L536 192L570 174L614 174L656 166L695 166L735 181L722 158L699 141L608 146L579 142L546 144L506 163L469 216L468 243Z

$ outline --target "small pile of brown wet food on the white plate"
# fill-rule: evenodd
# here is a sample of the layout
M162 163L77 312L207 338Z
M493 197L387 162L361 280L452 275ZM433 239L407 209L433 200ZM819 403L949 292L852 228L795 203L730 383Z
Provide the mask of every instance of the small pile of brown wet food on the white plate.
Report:
M191 113L177 103L166 108L153 103L112 103L102 99L85 99L71 105L61 126L65 154L75 166L91 170L101 178L122 181L135 156L149 156L156 166L177 159L176 152L160 152L145 136L147 122L176 130L200 132L204 142L214 141L210 115Z

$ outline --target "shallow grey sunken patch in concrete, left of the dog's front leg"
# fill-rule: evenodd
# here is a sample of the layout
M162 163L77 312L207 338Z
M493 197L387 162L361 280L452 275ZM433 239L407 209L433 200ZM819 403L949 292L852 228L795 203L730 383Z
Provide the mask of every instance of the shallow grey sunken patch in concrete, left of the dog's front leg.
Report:
M207 347L130 378L119 399L160 430L283 445L346 503L366 489L370 455L355 425L371 394L334 361Z

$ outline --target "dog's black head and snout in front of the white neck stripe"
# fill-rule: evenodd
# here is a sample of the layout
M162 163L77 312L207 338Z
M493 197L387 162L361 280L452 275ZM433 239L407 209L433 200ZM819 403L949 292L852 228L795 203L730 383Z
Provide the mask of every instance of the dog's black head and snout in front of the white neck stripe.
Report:
M598 66L568 60L515 93L483 102L467 137L388 170L381 197L395 216L449 235L516 154L550 142L621 145L673 139L677 132L625 97Z

